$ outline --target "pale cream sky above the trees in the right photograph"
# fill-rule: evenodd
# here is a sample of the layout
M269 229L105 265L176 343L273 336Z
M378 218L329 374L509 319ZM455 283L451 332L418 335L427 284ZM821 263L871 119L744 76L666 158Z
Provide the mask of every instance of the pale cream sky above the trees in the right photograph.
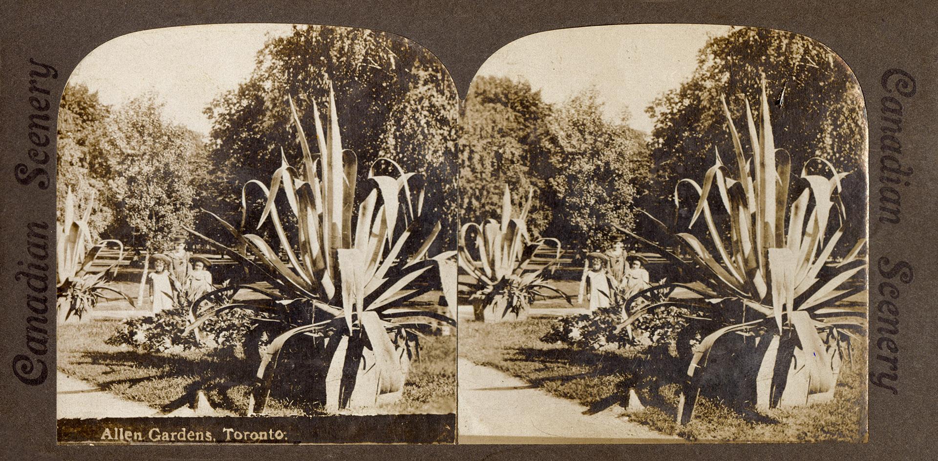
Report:
M606 115L628 108L629 124L651 131L644 109L688 79L697 52L729 26L628 24L579 27L519 38L492 54L477 75L523 77L548 102L595 85Z

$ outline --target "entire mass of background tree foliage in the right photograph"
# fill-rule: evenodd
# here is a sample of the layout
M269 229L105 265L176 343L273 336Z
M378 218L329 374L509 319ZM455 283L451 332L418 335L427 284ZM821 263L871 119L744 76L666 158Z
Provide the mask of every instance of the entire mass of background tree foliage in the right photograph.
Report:
M608 246L609 224L641 226L637 208L670 221L679 179L702 183L717 152L735 171L721 99L742 129L746 103L757 107L763 77L774 104L776 146L791 155L792 174L799 176L811 157L852 172L841 196L849 219L863 223L866 127L853 74L811 38L757 28L710 38L688 80L645 109L654 122L650 133L630 128L628 117L604 118L602 102L590 88L551 104L521 79L477 77L461 118L462 218L494 216L508 184L512 191L535 188L529 225L561 238L565 247ZM745 149L748 144L744 140ZM516 193L515 199L524 196ZM682 207L693 204L682 202ZM690 212L682 208L677 216ZM844 240L855 241L864 232L865 226L852 226Z

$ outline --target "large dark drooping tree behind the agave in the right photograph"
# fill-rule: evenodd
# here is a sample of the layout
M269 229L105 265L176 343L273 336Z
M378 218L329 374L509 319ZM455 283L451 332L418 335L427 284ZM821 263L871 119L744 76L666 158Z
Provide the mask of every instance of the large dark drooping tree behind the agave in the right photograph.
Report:
M792 174L800 174L809 158L821 157L840 171L855 172L846 181L847 196L865 196L863 99L853 74L814 39L744 27L709 39L688 81L647 108L655 120L656 182L646 207L663 207L658 216L671 212L676 181L702 180L717 151L735 168L720 100L725 97L737 126L745 126L746 101L756 107L763 76L775 105L775 144L791 155ZM743 142L749 149L745 136ZM852 218L866 215L865 204L847 207Z

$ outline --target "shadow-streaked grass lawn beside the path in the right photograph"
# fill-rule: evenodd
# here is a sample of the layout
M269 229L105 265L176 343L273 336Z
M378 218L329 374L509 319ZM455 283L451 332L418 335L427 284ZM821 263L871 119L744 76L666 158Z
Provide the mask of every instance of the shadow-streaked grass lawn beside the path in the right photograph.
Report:
M859 441L865 437L866 358L862 353L844 363L831 402L759 413L702 398L694 420L678 426L674 419L680 388L669 376L684 373L687 363L650 363L629 349L576 350L543 343L539 338L552 322L550 318L489 324L462 321L460 357L521 377L592 412L620 404L624 392L634 386L646 409L629 415L630 421L691 440Z

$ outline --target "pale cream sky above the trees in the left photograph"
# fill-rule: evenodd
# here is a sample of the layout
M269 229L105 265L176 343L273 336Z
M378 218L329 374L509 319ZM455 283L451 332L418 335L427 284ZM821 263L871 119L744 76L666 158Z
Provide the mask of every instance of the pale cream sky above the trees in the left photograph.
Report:
M145 91L166 102L165 115L208 134L202 113L221 92L247 80L268 35L289 34L290 24L211 24L145 30L113 38L84 57L69 77L105 104L121 104Z

